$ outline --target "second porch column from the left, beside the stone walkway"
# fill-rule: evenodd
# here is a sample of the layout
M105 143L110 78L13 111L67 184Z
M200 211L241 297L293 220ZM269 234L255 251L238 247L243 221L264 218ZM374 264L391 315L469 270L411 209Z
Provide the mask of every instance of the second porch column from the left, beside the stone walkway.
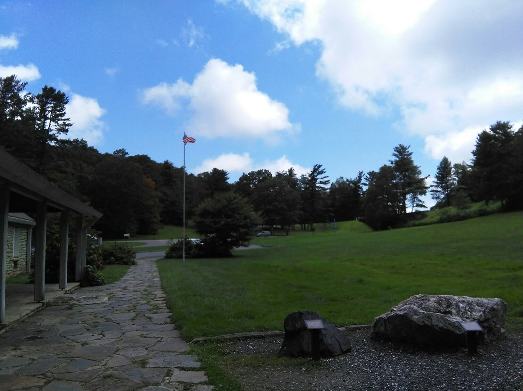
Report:
M35 237L35 301L46 300L47 201L38 201Z

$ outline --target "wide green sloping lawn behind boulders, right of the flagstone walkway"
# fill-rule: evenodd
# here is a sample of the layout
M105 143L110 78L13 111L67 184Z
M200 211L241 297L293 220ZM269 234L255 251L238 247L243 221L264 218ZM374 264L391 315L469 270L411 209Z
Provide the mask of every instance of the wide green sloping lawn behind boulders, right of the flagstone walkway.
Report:
M418 294L501 297L523 316L523 215L369 232L358 222L316 234L256 238L226 259L161 260L169 307L186 339L281 330L316 310L337 326L369 324Z

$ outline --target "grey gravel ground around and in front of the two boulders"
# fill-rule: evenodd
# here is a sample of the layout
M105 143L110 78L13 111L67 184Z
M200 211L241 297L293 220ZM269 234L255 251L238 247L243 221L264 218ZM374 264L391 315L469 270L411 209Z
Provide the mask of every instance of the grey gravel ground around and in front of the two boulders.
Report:
M523 390L523 336L506 335L463 348L422 348L370 339L370 330L347 332L353 350L332 359L302 365L226 364L246 391L338 390ZM232 340L220 345L242 357L274 357L283 337Z

